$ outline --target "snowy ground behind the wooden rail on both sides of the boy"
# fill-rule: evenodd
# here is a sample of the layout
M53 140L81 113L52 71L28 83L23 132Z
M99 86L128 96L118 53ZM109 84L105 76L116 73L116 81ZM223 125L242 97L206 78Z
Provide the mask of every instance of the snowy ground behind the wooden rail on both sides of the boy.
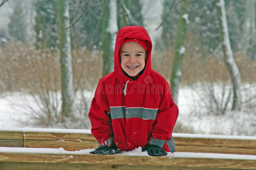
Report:
M255 86L255 84L245 84L244 86L251 87ZM256 88L253 88L253 90L249 92L255 96ZM19 99L21 100L16 101L17 95L19 95ZM247 95L246 91L244 91L243 98L245 99ZM92 96L91 92L85 94L88 101L92 99ZM27 94L16 92L6 93L0 96L0 129L44 128L42 126L36 126L31 119L31 115L24 114L22 110L17 109L16 104L22 105L20 101L26 101L26 103L29 101L31 107L38 107L35 100L30 99L30 96ZM249 110L245 109L243 112L227 112L225 114L216 115L205 111L205 108L200 108L202 107L200 102L203 101L199 99L197 94L195 94L190 87L181 87L178 104L180 114L176 124L176 126L179 126L177 129L178 133L179 129L181 129L183 133L256 136L256 104L254 104L254 108ZM26 124L24 124L24 122L26 122ZM55 126L53 128L63 127Z

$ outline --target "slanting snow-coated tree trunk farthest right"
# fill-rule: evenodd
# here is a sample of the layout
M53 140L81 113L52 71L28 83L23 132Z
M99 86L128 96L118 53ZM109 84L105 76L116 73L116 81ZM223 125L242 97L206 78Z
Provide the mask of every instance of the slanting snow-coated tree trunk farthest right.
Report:
M224 60L226 67L228 67L229 74L233 84L233 105L232 110L241 111L241 75L234 56L229 39L229 29L226 21L226 11L224 0L216 0L217 16L220 29L220 40L222 45L222 51L224 53Z

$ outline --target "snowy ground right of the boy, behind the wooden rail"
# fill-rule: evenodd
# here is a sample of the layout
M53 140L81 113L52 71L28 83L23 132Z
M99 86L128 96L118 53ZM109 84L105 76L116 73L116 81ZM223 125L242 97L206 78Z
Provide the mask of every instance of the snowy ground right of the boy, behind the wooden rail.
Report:
M255 85L255 83L242 84L242 89L248 88L247 91L242 91L243 101L247 101L250 99L249 96L256 94ZM216 88L214 91L217 100L221 101L223 87L216 83L214 88ZM187 133L256 136L256 112L251 108L255 99L251 101L251 105L244 105L241 112L228 111L217 115L205 107L206 93L203 84L195 85L195 90L190 86L180 87L179 117L176 125L180 125L181 129L187 129ZM232 101L229 108L231 105Z

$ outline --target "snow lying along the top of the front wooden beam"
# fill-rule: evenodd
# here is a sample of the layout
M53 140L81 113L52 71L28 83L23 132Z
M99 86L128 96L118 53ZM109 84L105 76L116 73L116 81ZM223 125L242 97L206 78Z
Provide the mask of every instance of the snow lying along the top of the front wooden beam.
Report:
M72 155L90 154L94 149L85 149L80 151L66 151L64 148L24 148L24 147L0 147L0 153L15 153L15 154L69 154ZM72 154L72 155L71 155ZM142 152L142 148L136 148L133 151L121 152L117 155L130 156L149 156L147 152ZM208 158L208 159L239 159L239 160L256 160L256 155L234 155L234 154L207 154L207 153L193 153L193 152L168 152L166 155L172 158Z

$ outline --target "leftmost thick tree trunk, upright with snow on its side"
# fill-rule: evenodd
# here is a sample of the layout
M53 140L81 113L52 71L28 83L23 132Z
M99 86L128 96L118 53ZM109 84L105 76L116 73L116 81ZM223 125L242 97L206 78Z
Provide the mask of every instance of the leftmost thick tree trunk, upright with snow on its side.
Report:
M69 29L68 0L57 1L57 23L59 33L59 50L61 65L61 96L62 96L62 117L69 117L72 114L73 105L73 73L72 73L72 56L71 56L71 39Z

